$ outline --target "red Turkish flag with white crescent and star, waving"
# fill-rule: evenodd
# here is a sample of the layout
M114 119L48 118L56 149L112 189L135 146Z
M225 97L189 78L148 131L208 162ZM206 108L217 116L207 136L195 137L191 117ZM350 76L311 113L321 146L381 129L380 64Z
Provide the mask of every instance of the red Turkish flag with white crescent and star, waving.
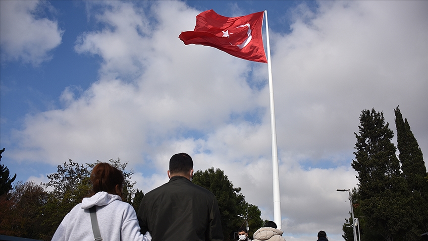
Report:
M196 16L193 31L181 32L185 45L200 44L222 50L229 55L250 61L267 63L262 39L264 12L241 17L224 17L213 9Z

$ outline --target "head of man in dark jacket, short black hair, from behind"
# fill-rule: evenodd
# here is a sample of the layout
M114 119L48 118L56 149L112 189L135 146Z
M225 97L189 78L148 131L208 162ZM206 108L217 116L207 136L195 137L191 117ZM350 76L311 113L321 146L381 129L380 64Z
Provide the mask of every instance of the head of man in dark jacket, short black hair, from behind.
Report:
M188 154L177 153L169 159L168 178L174 176L193 177L193 160Z

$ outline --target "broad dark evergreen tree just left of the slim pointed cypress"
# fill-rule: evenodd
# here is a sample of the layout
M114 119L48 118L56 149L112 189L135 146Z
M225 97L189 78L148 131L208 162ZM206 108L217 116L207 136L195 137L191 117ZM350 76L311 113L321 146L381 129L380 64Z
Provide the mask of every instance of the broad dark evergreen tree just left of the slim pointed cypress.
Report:
M386 241L415 240L409 239L409 192L391 143L394 133L389 123L385 124L382 112L363 110L358 128L356 158L351 165L358 173L358 197L366 234L380 235Z

